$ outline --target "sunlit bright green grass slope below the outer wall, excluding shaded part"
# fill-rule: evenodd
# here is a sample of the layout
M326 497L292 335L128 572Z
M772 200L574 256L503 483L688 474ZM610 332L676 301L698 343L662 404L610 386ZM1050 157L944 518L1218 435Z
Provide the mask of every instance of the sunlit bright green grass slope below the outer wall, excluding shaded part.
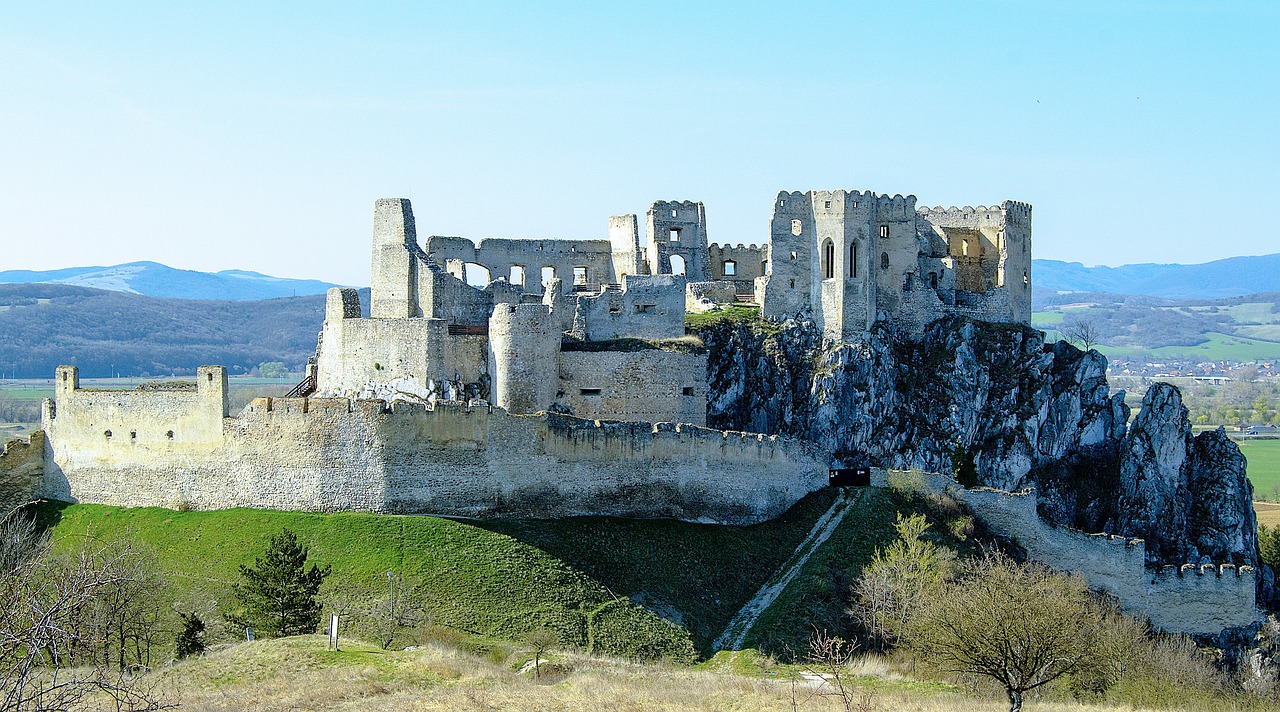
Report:
M46 505L56 544L92 533L131 538L156 552L178 602L230 602L238 566L252 565L283 528L333 566L334 583L353 595L385 590L387 571L415 580L435 624L518 639L539 626L566 644L605 654L690 661L682 627L613 595L604 585L547 553L474 524L429 516L305 514L265 510L177 512L95 505Z

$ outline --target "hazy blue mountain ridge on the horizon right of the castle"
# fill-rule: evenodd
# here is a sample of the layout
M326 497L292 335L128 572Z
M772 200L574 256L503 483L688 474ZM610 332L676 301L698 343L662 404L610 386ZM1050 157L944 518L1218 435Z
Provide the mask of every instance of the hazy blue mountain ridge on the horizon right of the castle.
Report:
M1228 257L1198 265L1138 264L1087 268L1080 263L1032 260L1033 295L1105 292L1174 300L1219 300L1280 292L1280 254Z

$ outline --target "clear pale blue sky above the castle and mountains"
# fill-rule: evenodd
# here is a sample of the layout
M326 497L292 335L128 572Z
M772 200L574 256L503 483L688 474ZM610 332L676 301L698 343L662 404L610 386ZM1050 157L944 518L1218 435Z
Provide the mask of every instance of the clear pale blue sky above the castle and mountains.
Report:
M749 243L835 188L1032 202L1037 257L1280 252L1280 3L193 5L0 0L0 270L367 284L378 197Z

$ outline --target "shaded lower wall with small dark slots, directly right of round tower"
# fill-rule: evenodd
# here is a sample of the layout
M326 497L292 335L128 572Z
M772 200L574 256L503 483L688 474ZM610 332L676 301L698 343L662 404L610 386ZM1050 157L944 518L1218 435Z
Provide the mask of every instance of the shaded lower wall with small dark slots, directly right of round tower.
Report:
M645 351L563 351L557 402L593 420L707 424L707 356Z

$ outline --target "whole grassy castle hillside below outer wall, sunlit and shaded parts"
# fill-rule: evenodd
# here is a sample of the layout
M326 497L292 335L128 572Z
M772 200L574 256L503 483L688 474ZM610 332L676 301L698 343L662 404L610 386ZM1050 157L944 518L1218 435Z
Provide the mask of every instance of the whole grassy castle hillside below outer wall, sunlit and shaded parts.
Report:
M129 537L156 552L184 608L230 602L241 563L282 528L333 566L355 597L387 590L387 571L416 581L433 622L515 640L553 627L584 649L635 658L691 659L791 554L832 502L817 492L754 526L576 517L461 521L431 516L264 510L177 512L44 505L61 546L93 533ZM812 625L849 626L849 583L893 538L897 511L922 503L870 490L753 629L748 643L780 654L805 648ZM945 526L938 537L960 544Z

